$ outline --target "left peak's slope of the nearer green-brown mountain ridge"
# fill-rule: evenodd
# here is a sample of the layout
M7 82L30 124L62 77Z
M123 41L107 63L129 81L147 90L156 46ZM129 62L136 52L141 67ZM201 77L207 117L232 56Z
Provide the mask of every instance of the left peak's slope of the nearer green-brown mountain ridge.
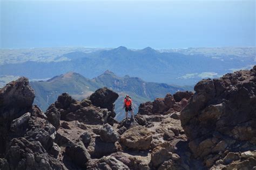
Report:
M75 98L82 99L102 87L102 84L92 82L90 79L72 72L55 76L47 81L32 81L30 85L36 92L34 103L43 110L55 102L62 93L68 92Z

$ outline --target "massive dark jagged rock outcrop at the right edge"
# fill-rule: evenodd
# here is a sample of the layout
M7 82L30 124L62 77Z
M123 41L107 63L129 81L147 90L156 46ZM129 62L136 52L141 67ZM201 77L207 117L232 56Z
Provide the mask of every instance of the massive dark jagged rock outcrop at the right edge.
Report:
M207 167L256 167L256 66L198 82L181 124L193 156Z

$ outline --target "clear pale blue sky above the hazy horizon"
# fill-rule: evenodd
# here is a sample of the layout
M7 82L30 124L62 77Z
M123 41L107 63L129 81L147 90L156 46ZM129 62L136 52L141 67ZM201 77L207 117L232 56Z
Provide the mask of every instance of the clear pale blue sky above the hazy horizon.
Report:
M0 48L255 46L254 0L0 1Z

